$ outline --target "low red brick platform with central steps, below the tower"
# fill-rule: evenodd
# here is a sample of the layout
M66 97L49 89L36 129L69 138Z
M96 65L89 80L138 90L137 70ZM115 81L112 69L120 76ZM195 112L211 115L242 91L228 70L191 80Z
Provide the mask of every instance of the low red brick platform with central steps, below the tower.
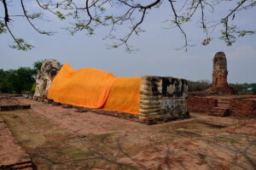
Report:
M256 117L256 95L189 97L188 110L209 116Z

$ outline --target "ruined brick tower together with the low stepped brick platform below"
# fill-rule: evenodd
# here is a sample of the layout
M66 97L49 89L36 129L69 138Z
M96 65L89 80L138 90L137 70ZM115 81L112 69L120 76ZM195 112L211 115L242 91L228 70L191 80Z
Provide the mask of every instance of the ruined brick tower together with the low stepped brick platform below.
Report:
M188 110L210 116L256 117L256 96L230 95L235 93L227 82L227 76L227 59L224 52L218 52L213 58L211 87L189 95Z

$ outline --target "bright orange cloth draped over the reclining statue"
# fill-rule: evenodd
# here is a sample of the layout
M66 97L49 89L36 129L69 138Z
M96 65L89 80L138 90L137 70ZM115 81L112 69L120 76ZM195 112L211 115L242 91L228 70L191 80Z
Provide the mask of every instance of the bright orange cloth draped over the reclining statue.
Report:
M140 77L115 77L93 68L73 70L62 66L48 90L47 97L70 105L139 113Z

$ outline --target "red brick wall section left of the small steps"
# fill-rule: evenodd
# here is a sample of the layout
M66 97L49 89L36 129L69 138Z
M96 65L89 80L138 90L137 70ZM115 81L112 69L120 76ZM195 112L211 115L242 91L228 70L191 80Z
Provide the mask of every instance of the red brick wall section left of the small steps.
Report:
M188 111L209 112L218 105L218 99L189 97L187 99Z

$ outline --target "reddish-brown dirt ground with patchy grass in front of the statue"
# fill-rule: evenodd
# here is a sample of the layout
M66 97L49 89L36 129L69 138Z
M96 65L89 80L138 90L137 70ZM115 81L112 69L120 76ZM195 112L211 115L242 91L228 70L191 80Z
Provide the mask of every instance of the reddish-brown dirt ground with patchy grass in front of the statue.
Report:
M190 113L145 125L21 99L0 116L39 170L256 169L256 120Z

